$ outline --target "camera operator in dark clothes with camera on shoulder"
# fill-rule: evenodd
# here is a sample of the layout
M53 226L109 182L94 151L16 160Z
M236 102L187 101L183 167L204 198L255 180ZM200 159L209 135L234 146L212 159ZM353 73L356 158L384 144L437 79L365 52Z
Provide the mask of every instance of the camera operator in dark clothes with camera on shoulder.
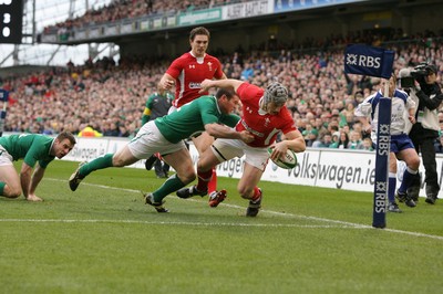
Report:
M434 65L421 64L414 70L400 71L400 85L408 90L416 107L415 120L409 136L415 146L415 150L422 154L425 169L426 202L434 204L437 199L440 185L436 172L434 141L439 137L440 124L437 108L443 101L442 91L436 83L437 70ZM408 190L412 199L419 200L420 176Z

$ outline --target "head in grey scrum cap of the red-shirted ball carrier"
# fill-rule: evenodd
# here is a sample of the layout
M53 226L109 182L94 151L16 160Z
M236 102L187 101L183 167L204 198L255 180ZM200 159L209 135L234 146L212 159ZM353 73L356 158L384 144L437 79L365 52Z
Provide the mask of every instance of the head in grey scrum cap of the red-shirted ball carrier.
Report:
M287 99L288 90L282 84L274 82L266 87L260 108L270 115L278 115Z

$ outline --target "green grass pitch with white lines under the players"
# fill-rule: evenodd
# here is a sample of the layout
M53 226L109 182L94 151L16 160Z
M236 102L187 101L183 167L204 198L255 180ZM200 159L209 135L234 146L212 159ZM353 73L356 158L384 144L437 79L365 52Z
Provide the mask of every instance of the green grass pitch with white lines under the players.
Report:
M21 162L18 162L19 167ZM372 193L260 183L246 218L236 179L228 198L144 204L154 171L111 168L71 192L76 162L51 164L37 195L0 198L1 293L440 293L443 200L387 216L373 229ZM442 201L442 202L440 202Z

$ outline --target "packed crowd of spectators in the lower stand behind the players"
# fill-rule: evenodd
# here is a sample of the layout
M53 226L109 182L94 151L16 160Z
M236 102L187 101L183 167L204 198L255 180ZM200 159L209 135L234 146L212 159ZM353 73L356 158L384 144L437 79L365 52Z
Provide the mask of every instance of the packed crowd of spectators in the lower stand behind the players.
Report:
M394 43L394 71L432 61L443 72L442 41ZM210 50L209 50L210 51ZM280 50L235 52L219 56L228 77L264 86L272 80L289 90L288 107L308 146L370 148L353 109L378 90L379 78L347 75L343 46L311 54ZM11 91L6 130L79 134L91 126L103 136L131 137L141 127L146 97L156 90L169 60L103 59L66 69L3 77ZM439 82L441 77L439 75ZM443 113L441 114L443 122Z

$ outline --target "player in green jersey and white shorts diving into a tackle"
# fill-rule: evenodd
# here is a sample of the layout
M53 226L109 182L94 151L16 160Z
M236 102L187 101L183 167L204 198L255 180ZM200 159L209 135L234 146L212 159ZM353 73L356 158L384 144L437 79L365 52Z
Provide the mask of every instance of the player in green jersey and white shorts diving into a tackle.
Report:
M167 212L163 199L196 178L190 154L183 139L207 132L216 138L240 139L245 143L253 140L254 136L248 130L236 132L233 128L240 119L231 114L239 102L233 90L219 90L215 96L202 96L174 113L144 124L137 135L115 154L106 154L81 165L69 180L71 190L75 191L80 182L94 170L130 166L159 153L177 174L154 192L146 193L145 200L158 212Z

